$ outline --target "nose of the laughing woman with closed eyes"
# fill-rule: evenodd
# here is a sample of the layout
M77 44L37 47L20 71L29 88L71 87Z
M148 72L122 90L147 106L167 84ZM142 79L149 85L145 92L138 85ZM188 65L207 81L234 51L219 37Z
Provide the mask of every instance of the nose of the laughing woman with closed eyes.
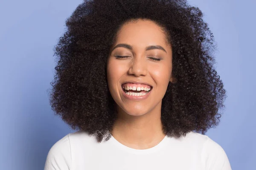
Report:
M136 77L145 76L147 74L147 64L144 57L134 57L128 73Z

